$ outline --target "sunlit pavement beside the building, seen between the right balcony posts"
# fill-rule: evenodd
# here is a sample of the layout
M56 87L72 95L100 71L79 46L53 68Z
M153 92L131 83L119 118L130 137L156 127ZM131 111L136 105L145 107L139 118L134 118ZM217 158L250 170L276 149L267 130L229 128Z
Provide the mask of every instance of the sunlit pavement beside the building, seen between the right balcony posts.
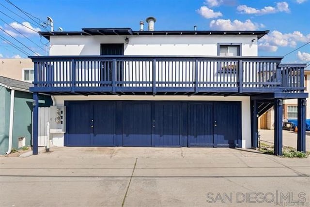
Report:
M274 130L259 129L261 141L274 143ZM294 131L283 130L283 146L297 148L297 133ZM306 132L306 150L310 151L310 131Z

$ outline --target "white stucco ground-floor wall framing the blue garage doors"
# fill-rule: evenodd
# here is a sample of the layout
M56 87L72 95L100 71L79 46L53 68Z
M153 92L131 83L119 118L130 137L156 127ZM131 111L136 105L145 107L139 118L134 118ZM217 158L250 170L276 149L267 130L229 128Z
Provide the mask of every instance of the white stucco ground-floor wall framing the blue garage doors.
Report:
M241 101L242 148L251 148L250 97L247 96L54 96L57 106L67 100L174 100L174 101ZM63 134L53 135L53 144L63 146Z

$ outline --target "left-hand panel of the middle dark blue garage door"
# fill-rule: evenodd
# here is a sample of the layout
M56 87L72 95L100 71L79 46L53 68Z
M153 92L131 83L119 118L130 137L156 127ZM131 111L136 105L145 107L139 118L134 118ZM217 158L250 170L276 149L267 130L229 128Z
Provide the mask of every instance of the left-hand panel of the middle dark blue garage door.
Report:
M152 117L150 102L124 103L124 146L151 146Z

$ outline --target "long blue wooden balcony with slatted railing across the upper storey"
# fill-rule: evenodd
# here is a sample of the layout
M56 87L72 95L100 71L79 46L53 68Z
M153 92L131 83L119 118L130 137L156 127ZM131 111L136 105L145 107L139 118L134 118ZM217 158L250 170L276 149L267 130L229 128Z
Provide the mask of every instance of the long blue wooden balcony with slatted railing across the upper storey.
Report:
M32 56L32 92L51 95L303 93L304 64L281 57Z

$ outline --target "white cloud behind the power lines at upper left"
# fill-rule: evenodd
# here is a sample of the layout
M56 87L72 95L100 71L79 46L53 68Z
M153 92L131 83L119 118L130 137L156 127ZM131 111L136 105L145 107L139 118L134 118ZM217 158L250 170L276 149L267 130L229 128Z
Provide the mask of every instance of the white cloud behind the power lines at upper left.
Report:
M23 35L21 35L20 33L22 33L25 36L29 37L29 36L37 34L37 32L39 32L39 31L41 31L40 28L32 27L29 22L22 22L22 24L19 24L17 22L12 22L12 23L10 23L10 26L9 25L5 25L3 29L4 29L5 32L9 33L10 35L12 35L14 37L17 37L17 36L21 36L22 37ZM20 33L16 32L12 27L14 29L16 29Z

